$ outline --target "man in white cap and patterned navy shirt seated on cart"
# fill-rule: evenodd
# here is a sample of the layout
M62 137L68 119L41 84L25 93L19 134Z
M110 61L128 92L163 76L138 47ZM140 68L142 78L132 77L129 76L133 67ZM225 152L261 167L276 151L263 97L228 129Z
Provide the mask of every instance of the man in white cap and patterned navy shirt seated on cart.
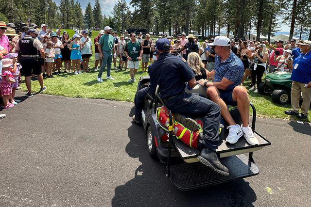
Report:
M214 82L199 80L200 85L207 87L207 96L217 103L221 109L221 115L229 124L229 134L226 142L237 143L244 135L250 145L259 144L249 121L249 98L245 87L241 86L244 73L242 61L231 51L230 40L224 36L217 36L215 46L215 69L208 72L207 77L214 75ZM237 125L231 117L227 105L238 106L242 118L242 125Z

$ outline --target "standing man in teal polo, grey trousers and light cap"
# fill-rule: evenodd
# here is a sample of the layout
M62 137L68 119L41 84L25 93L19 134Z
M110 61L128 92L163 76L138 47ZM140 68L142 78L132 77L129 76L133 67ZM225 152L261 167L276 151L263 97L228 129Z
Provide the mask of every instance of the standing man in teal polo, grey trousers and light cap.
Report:
M97 80L98 82L103 82L102 74L107 66L107 79L115 80L111 77L110 69L111 69L111 63L112 63L112 52L115 53L115 47L114 47L114 38L110 34L110 28L109 26L106 26L104 28L104 35L101 36L98 42L98 50L100 53L100 58L102 60L102 67L98 72Z

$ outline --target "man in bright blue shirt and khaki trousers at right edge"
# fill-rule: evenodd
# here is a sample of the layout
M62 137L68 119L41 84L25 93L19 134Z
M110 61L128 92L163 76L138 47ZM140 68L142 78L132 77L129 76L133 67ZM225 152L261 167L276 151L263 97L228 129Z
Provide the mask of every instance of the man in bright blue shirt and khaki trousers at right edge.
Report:
M311 102L311 41L305 40L298 43L301 53L294 60L294 67L291 79L292 92L291 101L292 109L284 111L288 115L296 115L300 119L305 119L309 114ZM301 113L299 113L299 98L302 93Z

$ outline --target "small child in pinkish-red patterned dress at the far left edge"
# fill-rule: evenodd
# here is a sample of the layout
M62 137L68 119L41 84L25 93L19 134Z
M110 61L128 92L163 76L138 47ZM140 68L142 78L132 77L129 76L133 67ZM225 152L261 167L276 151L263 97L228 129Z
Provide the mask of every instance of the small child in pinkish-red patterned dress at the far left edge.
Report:
M0 81L0 89L4 109L8 109L14 107L14 104L9 102L10 96L12 94L11 83L15 83L15 80L10 70L15 71L16 65L14 65L13 60L9 58L2 59L1 62L2 62L2 79Z

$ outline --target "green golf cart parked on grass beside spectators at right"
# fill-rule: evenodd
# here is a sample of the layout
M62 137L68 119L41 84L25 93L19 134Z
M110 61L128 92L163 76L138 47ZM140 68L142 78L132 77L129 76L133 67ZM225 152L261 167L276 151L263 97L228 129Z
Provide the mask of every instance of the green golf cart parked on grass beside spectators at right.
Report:
M291 101L292 74L284 71L269 73L264 82L258 85L258 93L272 94L272 100L278 104L288 104Z

